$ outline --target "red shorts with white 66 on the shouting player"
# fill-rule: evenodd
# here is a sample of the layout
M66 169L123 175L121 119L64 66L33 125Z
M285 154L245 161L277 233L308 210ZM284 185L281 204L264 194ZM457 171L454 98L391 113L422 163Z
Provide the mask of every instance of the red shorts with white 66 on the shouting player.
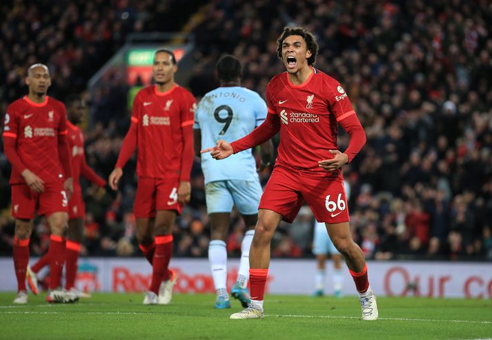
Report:
M350 220L342 175L330 177L326 172L299 172L282 166L273 169L258 208L278 212L292 223L304 200L319 222Z

